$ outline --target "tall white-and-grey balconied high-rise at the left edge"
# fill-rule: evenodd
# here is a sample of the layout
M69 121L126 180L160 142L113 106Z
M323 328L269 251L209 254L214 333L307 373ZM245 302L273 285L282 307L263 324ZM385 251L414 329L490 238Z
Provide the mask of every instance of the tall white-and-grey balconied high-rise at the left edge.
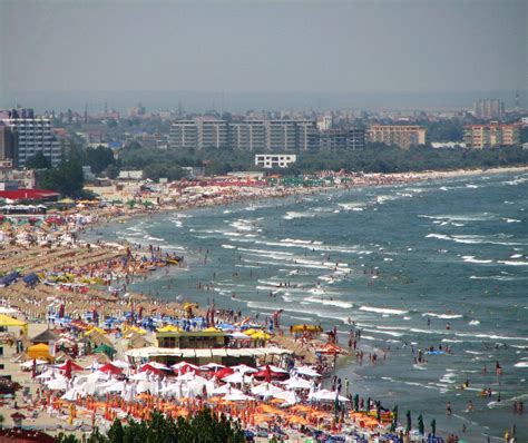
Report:
M13 149L13 164L25 167L28 158L37 152L42 152L57 166L61 160L60 145L51 130L51 121L48 118L35 117L32 109L12 109L2 118L16 135Z

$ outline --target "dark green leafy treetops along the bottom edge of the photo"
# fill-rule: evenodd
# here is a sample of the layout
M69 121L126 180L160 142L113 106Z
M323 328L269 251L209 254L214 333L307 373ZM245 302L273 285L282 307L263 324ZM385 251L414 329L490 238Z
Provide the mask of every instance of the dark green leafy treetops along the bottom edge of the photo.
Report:
M80 443L75 435L59 434L57 443ZM87 443L244 443L244 432L238 424L225 415L217 419L209 410L197 412L188 419L167 419L154 412L150 420L130 420L123 425L116 420L102 435L97 430L86 440Z

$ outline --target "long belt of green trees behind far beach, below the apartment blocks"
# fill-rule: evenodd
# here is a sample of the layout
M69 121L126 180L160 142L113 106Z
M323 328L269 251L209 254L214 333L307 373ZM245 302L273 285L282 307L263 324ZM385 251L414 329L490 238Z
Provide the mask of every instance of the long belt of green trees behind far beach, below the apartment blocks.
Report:
M292 152L293 154L293 152ZM369 145L362 150L302 151L297 163L282 174L297 175L323 169L346 169L364 173L405 173L421 170L449 170L460 168L491 168L500 166L526 165L528 150L521 147L493 149L433 149L429 146L409 150L382 144ZM207 175L223 175L229 171L257 170L254 165L254 152L232 149L141 149L128 147L119 152L124 168L144 169L147 165L164 165L167 170L158 170L155 177L164 177L170 170L178 171L182 166L205 165ZM165 174L165 175L163 175ZM153 177L150 177L153 178Z

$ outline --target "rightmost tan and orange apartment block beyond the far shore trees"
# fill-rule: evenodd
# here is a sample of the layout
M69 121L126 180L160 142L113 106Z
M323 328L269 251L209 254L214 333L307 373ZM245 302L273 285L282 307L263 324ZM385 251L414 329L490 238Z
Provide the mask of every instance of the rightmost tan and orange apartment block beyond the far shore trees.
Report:
M470 125L465 128L465 141L473 148L492 148L496 146L520 145L520 125Z

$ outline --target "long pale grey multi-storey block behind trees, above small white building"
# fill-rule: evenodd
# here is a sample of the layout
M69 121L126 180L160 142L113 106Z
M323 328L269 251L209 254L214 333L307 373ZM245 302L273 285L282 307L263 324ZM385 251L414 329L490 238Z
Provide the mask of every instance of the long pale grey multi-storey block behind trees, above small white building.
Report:
M170 128L169 146L197 150L307 150L319 147L319 134L315 120L177 120Z

